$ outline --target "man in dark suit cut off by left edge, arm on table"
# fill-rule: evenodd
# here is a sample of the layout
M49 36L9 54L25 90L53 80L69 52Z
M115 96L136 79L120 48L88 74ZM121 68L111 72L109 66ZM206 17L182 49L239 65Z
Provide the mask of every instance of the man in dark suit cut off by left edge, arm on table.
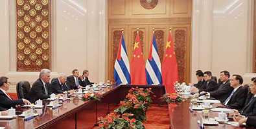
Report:
M10 83L7 81L8 77L0 77L0 107L1 110L8 110L9 108L15 108L19 104L30 104L27 99L12 99L8 94Z

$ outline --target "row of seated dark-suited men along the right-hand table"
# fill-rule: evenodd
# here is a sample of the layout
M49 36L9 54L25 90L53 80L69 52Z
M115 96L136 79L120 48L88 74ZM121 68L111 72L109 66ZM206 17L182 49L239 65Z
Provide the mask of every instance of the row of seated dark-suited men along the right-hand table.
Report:
M192 92L220 100L233 109L235 121L256 127L256 77L251 78L251 84L244 86L241 75L234 74L229 79L230 74L226 70L220 72L218 83L209 71L197 70L196 77L198 83L193 84Z

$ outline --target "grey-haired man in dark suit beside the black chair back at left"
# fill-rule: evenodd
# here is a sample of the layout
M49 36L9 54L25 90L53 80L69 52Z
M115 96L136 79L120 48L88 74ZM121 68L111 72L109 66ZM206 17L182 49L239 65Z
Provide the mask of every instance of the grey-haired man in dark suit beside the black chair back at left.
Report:
M38 99L47 99L51 95L49 91L49 81L51 79L51 70L42 69L37 79L33 84L29 92L30 101L34 103ZM56 95L59 97L60 95Z

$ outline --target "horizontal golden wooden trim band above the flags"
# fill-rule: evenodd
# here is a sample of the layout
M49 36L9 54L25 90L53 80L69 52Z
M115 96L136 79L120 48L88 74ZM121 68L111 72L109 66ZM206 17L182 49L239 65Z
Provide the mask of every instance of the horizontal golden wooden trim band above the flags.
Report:
M109 25L152 25L152 24L187 24L191 17L145 18L145 19L108 19Z

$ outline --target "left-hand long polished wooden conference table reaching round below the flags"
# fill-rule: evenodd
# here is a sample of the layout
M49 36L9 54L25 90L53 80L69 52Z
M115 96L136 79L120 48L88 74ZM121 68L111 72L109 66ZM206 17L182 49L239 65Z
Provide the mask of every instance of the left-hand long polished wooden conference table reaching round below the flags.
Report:
M97 117L105 116L117 108L120 101L124 100L128 90L136 87L134 85L110 86L100 90L102 101L83 101L81 96L71 97L69 101L62 103L62 106L51 109L46 106L49 102L44 102L43 109L35 109L40 115L29 121L23 121L22 117L10 120L0 120L0 126L14 129L30 128L93 128L97 123ZM163 85L141 85L140 88L152 88L152 104L161 105L159 97L165 94ZM17 108L18 111L28 108ZM168 114L168 113L167 113Z

